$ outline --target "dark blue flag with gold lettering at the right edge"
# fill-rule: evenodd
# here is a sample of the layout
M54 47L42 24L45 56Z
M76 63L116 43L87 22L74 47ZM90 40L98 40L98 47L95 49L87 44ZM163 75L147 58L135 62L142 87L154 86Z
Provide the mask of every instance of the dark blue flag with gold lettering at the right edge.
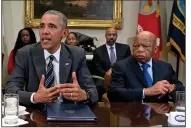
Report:
M168 30L167 48L185 62L185 0L174 0Z

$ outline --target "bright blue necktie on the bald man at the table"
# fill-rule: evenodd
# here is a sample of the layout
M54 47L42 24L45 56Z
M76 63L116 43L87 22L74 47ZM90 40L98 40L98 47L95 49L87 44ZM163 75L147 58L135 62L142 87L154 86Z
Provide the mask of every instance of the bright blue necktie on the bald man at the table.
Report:
M145 80L147 81L147 85L148 85L148 87L151 87L153 85L153 81L152 81L151 76L148 72L148 67L150 67L149 64L143 64L142 65L143 73L144 73Z

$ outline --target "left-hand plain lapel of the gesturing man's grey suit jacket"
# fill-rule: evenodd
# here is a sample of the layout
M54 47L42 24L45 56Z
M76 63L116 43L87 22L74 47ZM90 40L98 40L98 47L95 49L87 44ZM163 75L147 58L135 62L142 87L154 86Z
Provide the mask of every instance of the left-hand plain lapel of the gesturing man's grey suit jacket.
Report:
M36 69L36 72L38 74L38 78L39 80L42 77L42 74L45 75L46 73L46 62L44 59L44 50L41 47L41 45L37 45L37 47L33 48L31 50L31 54L32 54L32 59L34 62L34 67Z

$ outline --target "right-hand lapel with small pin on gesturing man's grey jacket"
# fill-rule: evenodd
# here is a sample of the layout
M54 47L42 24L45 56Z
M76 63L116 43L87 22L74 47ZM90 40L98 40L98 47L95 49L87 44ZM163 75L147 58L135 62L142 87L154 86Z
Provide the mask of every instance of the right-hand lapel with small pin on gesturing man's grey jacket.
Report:
M69 51L67 48L62 44L61 45L61 51L60 51L60 72L59 72L59 77L60 77L60 83L66 83L72 66L72 59Z

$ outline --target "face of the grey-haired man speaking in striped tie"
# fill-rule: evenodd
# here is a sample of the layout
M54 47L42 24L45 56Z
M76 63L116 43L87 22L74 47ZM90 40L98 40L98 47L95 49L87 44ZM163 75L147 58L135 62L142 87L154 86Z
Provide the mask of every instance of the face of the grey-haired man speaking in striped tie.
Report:
M45 14L40 22L40 41L42 48L50 53L58 50L61 40L65 36L64 26L57 15Z

